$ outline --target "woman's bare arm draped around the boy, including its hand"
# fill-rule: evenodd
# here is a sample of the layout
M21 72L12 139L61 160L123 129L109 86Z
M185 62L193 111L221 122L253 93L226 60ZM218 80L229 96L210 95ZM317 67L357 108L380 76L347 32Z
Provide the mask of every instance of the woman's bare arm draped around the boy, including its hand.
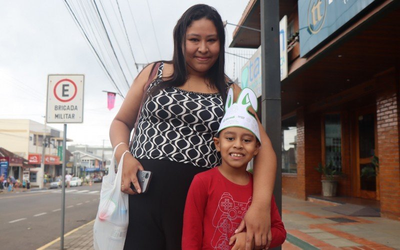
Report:
M236 101L241 89L233 84L234 99ZM258 122L261 137L261 147L254 158L253 167L253 199L242 223L237 228L239 232L246 228L246 247L251 249L251 241L254 240L254 248L262 249L271 241L270 235L270 208L273 186L276 174L276 155L271 141L259 121L254 109L250 107Z

